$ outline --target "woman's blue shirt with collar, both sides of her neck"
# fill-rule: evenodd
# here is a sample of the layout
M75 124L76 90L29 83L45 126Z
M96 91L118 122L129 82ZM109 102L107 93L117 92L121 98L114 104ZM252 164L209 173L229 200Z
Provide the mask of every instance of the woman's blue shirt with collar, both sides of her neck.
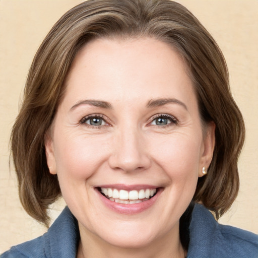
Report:
M258 258L258 235L219 224L200 204L193 208L189 232L187 258ZM66 207L44 235L0 258L76 258L79 239L78 222Z

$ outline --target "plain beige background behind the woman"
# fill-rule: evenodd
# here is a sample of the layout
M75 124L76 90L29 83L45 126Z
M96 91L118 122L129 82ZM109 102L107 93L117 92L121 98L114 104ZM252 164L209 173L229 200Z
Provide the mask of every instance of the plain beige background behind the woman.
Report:
M40 42L79 0L0 0L0 253L41 235L45 228L22 209L9 171L9 137L26 75ZM240 191L220 220L258 233L258 1L181 0L211 32L228 62L233 95L246 122ZM53 206L55 218L63 207Z

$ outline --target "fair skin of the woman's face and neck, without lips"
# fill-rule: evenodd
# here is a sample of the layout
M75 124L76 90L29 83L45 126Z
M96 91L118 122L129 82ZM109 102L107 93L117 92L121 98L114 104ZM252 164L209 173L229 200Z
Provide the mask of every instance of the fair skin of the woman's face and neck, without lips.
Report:
M66 85L45 147L50 173L58 175L78 219L78 257L184 257L179 218L202 167L210 164L215 126L208 124L203 135L179 55L151 38L97 39L79 51ZM168 98L176 101L147 107ZM84 118L92 114L101 115L100 126ZM164 114L172 119L157 124ZM150 184L163 191L150 208L120 214L100 200L94 187L103 184Z

